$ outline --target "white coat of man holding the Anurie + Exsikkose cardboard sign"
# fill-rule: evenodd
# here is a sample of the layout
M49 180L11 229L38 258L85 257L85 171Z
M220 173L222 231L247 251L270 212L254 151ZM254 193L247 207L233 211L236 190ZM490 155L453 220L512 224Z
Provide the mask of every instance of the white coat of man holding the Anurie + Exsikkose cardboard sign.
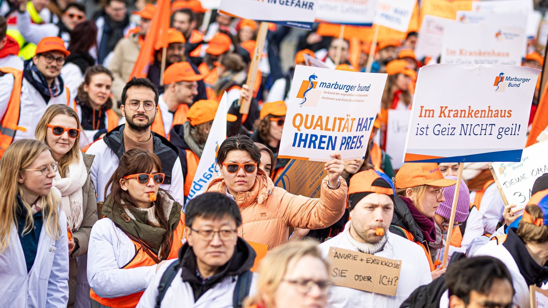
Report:
M359 251L346 238L346 232L349 232L348 229L319 244L319 249L324 258L327 258L330 247ZM386 232L386 236L387 241L383 250L374 255L387 259L402 260L396 296L334 286L329 290L328 307L353 308L369 306L397 308L416 288L432 282L430 265L424 250L412 241L391 232Z

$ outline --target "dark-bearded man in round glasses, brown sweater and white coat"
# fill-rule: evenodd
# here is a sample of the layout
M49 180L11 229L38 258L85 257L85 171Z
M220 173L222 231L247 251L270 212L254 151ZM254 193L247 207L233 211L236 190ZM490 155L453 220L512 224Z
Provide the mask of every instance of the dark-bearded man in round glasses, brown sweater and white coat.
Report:
M160 158L165 173L160 187L170 191L175 201L182 202L184 178L179 150L164 136L151 130L158 111L158 90L155 85L146 78L131 79L122 91L122 103L120 111L125 117L125 124L95 141L86 151L95 155L89 174L95 184L97 201L104 201L105 189L109 189L106 184L118 167L119 158L125 151L138 147Z

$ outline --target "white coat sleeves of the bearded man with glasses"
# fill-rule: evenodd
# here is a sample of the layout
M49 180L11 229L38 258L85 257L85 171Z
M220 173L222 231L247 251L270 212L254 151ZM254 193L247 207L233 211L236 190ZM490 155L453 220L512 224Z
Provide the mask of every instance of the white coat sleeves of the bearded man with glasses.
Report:
M106 145L105 141L100 139L95 142L86 151L87 154L95 155L92 169L89 175L95 185L97 201L105 200L105 187L112 174L118 168L118 156ZM172 185L160 184L160 188L170 192L175 201L184 204L184 186L185 179L182 176L181 161L176 159L172 168ZM110 189L109 189L110 192ZM88 253L89 256L89 253ZM89 262L89 260L88 260Z

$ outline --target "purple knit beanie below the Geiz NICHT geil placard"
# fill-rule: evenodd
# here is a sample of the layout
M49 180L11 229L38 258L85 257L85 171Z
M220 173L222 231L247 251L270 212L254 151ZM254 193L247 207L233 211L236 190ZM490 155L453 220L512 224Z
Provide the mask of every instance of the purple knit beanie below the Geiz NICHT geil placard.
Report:
M448 175L446 179L456 180L456 176ZM456 184L453 186L445 187L443 190L443 197L446 201L439 203L439 207L436 210L436 214L442 216L443 218L449 220L451 218L451 207L453 206L453 197L455 196ZM456 212L455 212L455 222L463 223L470 210L470 192L468 191L468 186L464 180L461 180L459 198L456 201Z

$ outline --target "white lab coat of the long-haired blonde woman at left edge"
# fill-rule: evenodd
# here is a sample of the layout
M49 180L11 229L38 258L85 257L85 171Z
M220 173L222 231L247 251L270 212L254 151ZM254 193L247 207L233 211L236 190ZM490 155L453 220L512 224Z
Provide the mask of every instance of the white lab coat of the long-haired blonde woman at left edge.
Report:
M25 255L15 224L9 246L0 253L0 307L66 307L68 302L68 238L65 213L59 207L61 237L40 231L36 259L27 273Z

